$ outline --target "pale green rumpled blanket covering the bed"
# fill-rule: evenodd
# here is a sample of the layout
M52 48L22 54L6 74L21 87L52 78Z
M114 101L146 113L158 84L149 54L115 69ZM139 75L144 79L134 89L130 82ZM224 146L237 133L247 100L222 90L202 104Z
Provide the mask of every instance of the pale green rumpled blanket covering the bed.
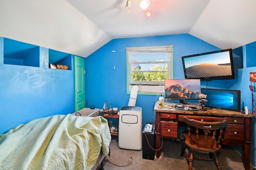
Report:
M111 140L101 116L54 115L0 135L1 170L90 170Z

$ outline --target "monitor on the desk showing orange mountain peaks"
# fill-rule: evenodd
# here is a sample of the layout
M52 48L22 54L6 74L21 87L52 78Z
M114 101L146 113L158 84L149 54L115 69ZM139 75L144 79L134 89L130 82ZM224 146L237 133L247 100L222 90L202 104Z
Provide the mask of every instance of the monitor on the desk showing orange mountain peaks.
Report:
M166 100L177 99L180 103L184 103L184 100L198 100L200 91L200 79L164 80L164 96Z

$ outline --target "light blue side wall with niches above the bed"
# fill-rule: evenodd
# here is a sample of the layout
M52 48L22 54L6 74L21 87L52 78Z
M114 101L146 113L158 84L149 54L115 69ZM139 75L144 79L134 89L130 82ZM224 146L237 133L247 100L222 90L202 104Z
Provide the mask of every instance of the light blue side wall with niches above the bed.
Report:
M33 119L74 112L73 68L49 69L48 49L43 47L34 57L39 57L40 67L4 64L0 37L0 134Z

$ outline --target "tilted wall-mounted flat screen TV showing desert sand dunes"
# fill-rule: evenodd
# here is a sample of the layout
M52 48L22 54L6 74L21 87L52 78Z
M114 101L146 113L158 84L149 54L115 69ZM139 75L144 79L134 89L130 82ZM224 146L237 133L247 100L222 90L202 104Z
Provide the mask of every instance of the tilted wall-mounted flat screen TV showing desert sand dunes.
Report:
M234 79L232 49L182 57L185 79L204 81Z

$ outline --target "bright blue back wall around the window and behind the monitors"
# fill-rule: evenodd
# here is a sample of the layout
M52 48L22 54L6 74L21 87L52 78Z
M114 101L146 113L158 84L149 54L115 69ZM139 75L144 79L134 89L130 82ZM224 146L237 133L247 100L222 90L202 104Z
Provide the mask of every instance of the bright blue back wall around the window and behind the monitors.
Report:
M112 103L112 107L119 109L127 105L129 95L126 94L126 47L162 45L174 45L174 79L184 79L182 56L219 49L189 34L112 40L86 58L86 107L94 105L101 109L105 100L108 100L108 105ZM246 56L246 52L244 52L244 56ZM244 101L244 105L251 110L249 72L256 72L256 69L255 67L247 69L246 65L244 68L235 70L234 80L215 80L208 84L206 81L201 81L201 87L205 88L207 85L208 88L241 90L241 101ZM152 121L153 105L158 97L156 95L138 95L136 106L142 107L143 124L146 121ZM115 123L114 120L113 123ZM250 159L251 163L255 164L255 152L253 152L255 151L255 121L253 120L251 123L252 152L250 152ZM238 149L240 148L238 147Z

